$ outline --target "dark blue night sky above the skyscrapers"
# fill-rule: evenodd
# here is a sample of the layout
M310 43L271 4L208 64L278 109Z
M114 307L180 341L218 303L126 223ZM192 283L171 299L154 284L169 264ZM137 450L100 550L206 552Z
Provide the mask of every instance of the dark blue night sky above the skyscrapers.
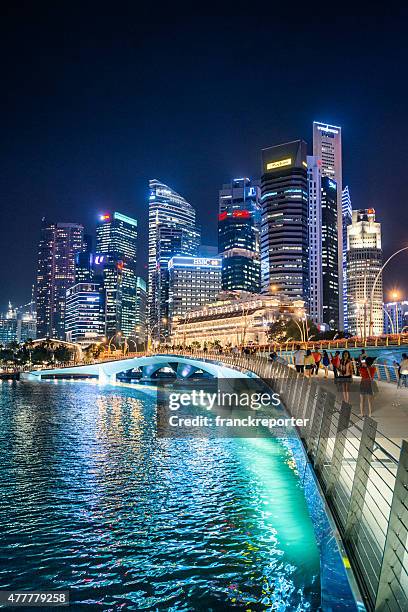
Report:
M106 209L135 216L146 276L149 178L185 196L216 244L221 184L259 177L263 147L302 137L311 153L313 120L342 126L343 184L354 208L376 209L385 255L408 245L401 15L56 4L13 3L0 20L0 311L30 297L41 217L94 232ZM403 254L385 289L408 298L407 270Z

